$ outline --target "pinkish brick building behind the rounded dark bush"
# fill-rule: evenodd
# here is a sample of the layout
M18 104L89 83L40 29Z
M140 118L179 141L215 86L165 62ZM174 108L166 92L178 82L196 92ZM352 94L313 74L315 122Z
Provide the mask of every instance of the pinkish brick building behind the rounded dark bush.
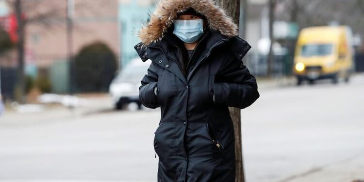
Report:
M0 0L0 5L10 10L0 8L0 17L13 15L12 4L4 6L6 2ZM54 92L68 91L69 45L72 45L71 54L75 55L83 46L99 41L119 57L118 0L38 0L23 3L24 16L29 20L25 33L26 74L33 77L40 71L46 74ZM67 44L67 14L73 22L71 44Z

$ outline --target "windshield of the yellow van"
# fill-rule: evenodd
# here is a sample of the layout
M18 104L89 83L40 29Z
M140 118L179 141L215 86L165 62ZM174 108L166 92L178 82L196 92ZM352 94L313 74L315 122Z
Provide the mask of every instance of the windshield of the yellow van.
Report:
M327 56L332 53L332 44L306 44L301 48L302 57Z

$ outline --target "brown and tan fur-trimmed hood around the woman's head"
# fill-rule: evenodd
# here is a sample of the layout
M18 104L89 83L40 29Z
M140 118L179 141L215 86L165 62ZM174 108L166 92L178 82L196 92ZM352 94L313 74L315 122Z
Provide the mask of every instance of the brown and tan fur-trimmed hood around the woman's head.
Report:
M238 26L214 0L158 0L156 10L137 33L142 44L149 45L160 41L173 24L177 14L188 8L193 8L204 15L211 30L218 31L227 37L238 35Z

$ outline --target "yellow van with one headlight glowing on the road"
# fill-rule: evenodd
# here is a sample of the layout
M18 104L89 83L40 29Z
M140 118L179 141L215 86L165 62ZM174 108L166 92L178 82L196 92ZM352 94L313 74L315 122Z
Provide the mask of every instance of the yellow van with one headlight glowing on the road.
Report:
M307 80L339 78L348 82L353 71L352 33L347 26L322 26L302 29L295 51L294 73L297 84Z

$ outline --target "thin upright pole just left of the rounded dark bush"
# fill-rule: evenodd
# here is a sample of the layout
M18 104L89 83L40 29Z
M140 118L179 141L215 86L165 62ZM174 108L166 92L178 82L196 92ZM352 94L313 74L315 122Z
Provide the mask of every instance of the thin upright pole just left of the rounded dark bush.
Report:
M69 64L69 95L75 92L74 83L74 63L73 63L73 13L74 13L74 0L66 0L66 45L67 45L67 58Z

